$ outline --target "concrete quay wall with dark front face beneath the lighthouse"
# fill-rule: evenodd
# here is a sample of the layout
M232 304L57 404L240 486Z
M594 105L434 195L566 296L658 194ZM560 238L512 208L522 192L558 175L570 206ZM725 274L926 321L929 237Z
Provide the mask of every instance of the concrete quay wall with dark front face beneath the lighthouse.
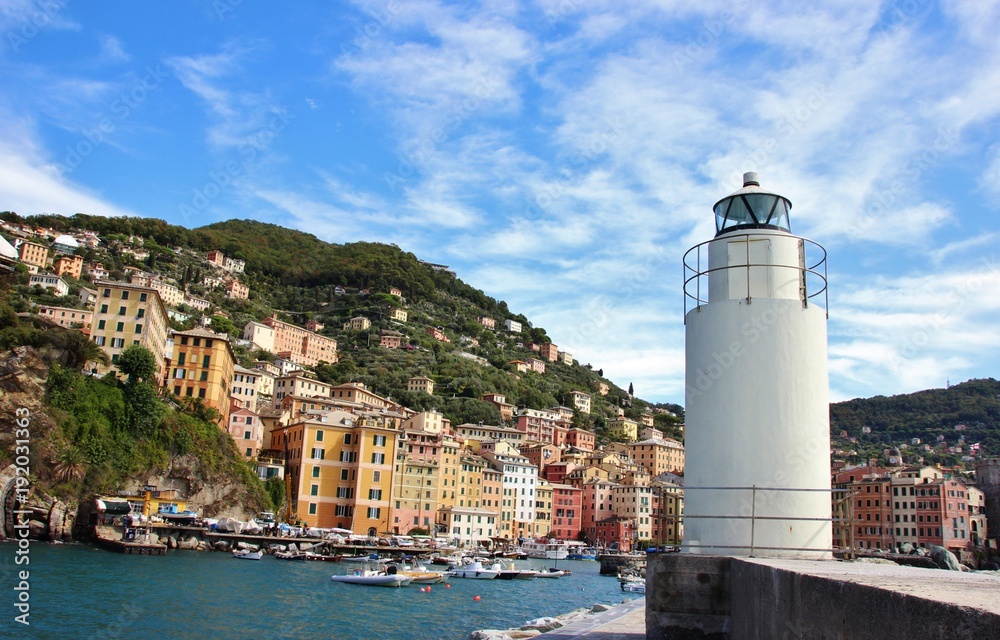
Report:
M856 562L667 554L647 568L647 640L1000 638L1000 578Z

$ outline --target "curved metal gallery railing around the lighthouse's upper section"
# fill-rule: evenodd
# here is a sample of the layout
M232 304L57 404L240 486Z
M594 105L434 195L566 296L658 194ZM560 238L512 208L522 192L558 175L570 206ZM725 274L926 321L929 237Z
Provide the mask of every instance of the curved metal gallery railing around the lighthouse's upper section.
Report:
M798 240L800 243L799 259L801 260L801 263L799 265L790 265L750 262L750 241L759 240L768 236ZM684 254L685 318L687 318L689 300L692 303L692 309L698 309L701 305L708 304L708 283L706 282L702 285L702 281L707 280L712 273L719 271L743 269L746 273L746 301L751 302L753 300L753 291L751 290L752 279L750 277L750 270L752 268L790 269L799 272L799 299L802 300L802 305L807 307L809 306L811 300L821 299L823 310L827 312L827 317L829 317L830 299L827 291L826 249L823 248L822 245L813 242L808 238L793 236L787 233L767 234L758 231L756 233L727 234L725 236L725 240L729 242L742 242L746 245L746 263L726 265L710 269L708 267L708 256L705 255L703 258L702 254L707 254L709 245L718 240L720 240L720 238L714 238L712 240L696 244L688 249ZM811 257L815 256L817 251L819 252L818 258L811 259ZM692 253L694 254L693 256ZM812 291L812 293L810 293L810 291ZM819 296L823 297L819 298Z

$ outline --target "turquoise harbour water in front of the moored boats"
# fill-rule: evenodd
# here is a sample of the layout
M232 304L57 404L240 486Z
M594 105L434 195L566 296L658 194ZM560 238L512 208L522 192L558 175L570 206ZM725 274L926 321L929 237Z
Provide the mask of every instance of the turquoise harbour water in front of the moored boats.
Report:
M462 580L401 589L330 580L354 565L259 562L225 553L127 556L86 545L31 546L31 626L13 620L14 545L0 544L0 637L464 640L595 603L632 599L600 565L561 560L557 579ZM522 560L518 568L551 566ZM480 600L474 600L474 596Z

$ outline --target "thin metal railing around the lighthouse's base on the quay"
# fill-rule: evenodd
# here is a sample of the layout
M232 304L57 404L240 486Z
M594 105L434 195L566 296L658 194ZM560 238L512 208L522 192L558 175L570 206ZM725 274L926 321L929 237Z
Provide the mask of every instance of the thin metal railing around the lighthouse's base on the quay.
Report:
M804 488L804 487L761 487L757 485L750 485L748 487L684 487L683 491L686 493L688 491L740 491L745 492L748 495L747 502L744 503L745 507L749 508L749 513L740 514L677 514L677 515L658 515L657 519L663 522L671 523L671 529L676 528L677 530L683 526L685 520L725 520L725 521L749 521L750 531L745 544L692 544L688 540L684 540L682 545L689 549L743 549L749 551L751 557L757 551L802 551L802 552L829 552L833 553L838 551L837 547L769 547L757 544L757 523L758 522L829 522L831 525L841 524L841 532L847 532L847 535L853 533L853 527L844 527L844 524L850 525L852 523L852 518L850 515L850 494L848 490L845 489L815 489L815 488ZM786 515L770 515L758 513L758 507L762 506L760 504L760 495L768 495L771 493L825 493L830 496L831 499L831 515L830 517L815 517L815 516L786 516ZM844 497L839 497L841 494L845 494ZM845 513L843 516L839 514L840 509L838 507L845 507ZM661 526L661 530L662 530ZM832 532L831 532L832 533ZM850 542L845 541L844 545L840 548L853 547L853 535L850 535Z

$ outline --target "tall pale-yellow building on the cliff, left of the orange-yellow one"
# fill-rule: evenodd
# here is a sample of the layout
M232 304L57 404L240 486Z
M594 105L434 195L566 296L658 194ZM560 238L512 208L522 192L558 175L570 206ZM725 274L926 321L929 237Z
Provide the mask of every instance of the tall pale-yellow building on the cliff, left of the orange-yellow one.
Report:
M97 371L103 374L115 370L122 349L138 344L153 353L157 372L161 372L169 324L160 295L153 289L123 282L100 280L96 288L90 339L111 359L109 366L100 365Z

